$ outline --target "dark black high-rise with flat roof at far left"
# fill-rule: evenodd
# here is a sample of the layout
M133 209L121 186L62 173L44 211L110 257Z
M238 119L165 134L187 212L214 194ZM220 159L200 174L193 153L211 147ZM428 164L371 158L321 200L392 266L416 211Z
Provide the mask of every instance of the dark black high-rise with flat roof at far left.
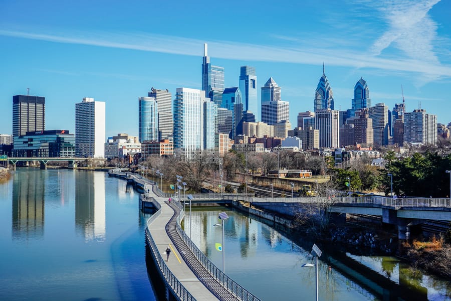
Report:
M46 128L46 98L30 95L13 96L13 136Z

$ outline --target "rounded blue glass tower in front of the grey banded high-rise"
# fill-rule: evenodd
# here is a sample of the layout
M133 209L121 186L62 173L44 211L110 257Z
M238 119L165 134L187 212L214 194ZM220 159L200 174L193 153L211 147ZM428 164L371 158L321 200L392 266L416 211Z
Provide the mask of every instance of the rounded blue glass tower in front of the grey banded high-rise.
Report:
M139 142L158 140L158 103L155 97L139 97Z

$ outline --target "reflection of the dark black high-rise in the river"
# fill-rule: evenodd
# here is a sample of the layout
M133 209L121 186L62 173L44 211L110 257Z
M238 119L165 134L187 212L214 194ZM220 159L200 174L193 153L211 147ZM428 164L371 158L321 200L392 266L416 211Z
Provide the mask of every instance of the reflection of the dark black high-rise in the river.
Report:
M13 180L13 239L42 238L47 173L27 173Z

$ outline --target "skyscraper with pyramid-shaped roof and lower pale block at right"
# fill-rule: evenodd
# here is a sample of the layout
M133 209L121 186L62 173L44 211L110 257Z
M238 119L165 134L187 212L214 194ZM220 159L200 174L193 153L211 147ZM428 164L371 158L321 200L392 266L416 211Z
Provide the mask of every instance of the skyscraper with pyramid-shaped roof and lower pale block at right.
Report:
M290 105L281 100L280 91L281 88L272 77L262 87L262 121L269 125L288 121Z

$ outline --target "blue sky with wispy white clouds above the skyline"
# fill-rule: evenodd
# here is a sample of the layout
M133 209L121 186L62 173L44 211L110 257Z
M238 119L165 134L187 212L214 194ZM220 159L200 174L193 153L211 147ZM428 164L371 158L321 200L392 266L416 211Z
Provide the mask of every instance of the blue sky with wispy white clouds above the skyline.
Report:
M12 96L46 97L46 128L75 129L75 103L106 102L106 134L138 134L138 97L151 87L200 88L203 43L238 86L240 66L270 76L290 121L313 110L326 65L335 109L363 77L372 104L402 100L451 121L451 4L446 1L0 0L0 133ZM260 91L259 91L260 98Z

